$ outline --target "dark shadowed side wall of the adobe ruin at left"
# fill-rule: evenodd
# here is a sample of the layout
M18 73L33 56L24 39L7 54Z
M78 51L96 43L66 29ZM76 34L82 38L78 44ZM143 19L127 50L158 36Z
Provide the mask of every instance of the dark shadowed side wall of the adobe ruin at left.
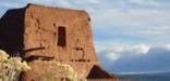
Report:
M24 48L24 9L9 10L0 19L0 49L21 54Z

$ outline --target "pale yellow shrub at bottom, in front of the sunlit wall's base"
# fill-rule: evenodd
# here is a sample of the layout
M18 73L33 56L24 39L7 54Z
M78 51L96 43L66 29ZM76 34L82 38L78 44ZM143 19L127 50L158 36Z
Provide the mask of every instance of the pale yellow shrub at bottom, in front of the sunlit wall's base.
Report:
M76 71L70 65L56 62L53 64L54 66L50 67L50 70L39 77L38 81L86 81L85 79L80 79ZM56 71L53 71L54 69Z

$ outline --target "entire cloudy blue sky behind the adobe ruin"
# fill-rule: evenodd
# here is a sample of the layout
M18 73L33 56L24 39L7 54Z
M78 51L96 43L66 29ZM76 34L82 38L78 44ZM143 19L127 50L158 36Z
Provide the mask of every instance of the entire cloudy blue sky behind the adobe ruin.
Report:
M28 2L86 10L110 72L170 71L170 0L1 0L0 16Z

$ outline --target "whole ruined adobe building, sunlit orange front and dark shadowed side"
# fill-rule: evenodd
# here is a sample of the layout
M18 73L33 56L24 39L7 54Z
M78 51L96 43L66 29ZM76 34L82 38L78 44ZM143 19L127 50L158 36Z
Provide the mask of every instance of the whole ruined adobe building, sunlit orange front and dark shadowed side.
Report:
M29 63L24 81L39 81L52 66L44 60L71 65L82 78L113 78L99 66L89 22L82 10L36 4L9 10L0 19L0 49Z

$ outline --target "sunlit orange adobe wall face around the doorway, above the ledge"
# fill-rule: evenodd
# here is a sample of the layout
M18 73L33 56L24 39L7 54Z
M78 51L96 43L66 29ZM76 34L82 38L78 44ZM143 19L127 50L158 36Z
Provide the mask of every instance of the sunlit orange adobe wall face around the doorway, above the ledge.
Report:
M57 62L97 62L85 11L28 5L24 21L24 49L32 50L25 57L44 55L53 56Z

